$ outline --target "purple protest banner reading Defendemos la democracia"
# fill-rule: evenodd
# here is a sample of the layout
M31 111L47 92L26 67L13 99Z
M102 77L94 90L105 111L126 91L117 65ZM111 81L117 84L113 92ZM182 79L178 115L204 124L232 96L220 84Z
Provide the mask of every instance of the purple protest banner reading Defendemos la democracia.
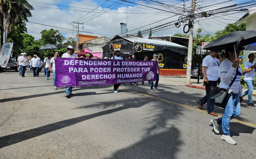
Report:
M57 58L56 87L156 80L158 61Z

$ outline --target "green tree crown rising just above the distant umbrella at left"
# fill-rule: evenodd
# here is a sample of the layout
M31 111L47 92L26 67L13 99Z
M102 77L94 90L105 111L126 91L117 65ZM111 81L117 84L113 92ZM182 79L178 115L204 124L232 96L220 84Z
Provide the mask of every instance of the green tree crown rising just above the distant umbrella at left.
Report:
M58 43L62 43L65 40L65 37L63 35L61 35L61 33L58 30L54 30L54 29L49 29L49 30L42 30L40 32L41 35L41 39L39 39L39 42L41 45L44 44L55 44L56 45L56 38Z

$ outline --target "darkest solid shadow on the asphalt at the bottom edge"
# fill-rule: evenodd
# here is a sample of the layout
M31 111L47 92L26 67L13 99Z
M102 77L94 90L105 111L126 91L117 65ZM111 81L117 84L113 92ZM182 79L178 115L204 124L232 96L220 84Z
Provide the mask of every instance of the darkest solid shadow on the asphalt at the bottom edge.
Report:
M132 146L118 150L108 159L174 159L182 144L180 131L172 127L166 132L149 135Z

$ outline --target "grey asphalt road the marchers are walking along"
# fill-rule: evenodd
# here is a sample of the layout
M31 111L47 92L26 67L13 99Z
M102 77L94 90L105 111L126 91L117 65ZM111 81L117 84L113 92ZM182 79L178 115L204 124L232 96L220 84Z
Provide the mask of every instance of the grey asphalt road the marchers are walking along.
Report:
M231 145L221 128L213 131L218 117L198 109L205 90L185 87L185 78L160 77L160 91L147 82L120 86L118 94L112 85L78 87L66 99L52 77L25 75L0 73L0 158L256 158L256 108L247 96L230 122Z

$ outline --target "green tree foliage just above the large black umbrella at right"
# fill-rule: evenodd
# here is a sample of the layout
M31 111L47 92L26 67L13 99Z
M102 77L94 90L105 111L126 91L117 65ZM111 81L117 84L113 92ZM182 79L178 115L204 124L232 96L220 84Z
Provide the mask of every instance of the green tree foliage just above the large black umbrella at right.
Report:
M228 33L236 32L236 31L244 31L245 29L246 29L246 23L242 23L239 25L235 25L232 23L232 24L227 24L225 29L215 32L215 35L217 38L219 38Z

